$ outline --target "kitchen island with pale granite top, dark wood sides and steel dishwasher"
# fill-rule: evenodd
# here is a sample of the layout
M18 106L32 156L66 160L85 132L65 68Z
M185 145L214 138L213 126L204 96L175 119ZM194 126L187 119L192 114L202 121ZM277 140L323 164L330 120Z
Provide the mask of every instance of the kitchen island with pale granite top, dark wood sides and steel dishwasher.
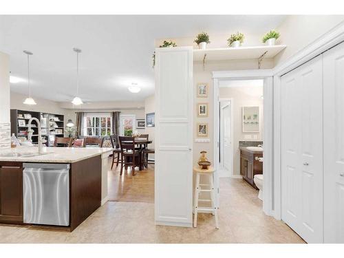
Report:
M47 210L45 206L50 207L50 210L52 210L51 207L53 210L56 209L56 214L51 211L47 212L45 217L48 220L49 217L58 217L61 220L63 216L60 212L67 211L68 215L65 215L64 219L65 225L57 224L59 226L56 226L49 222L39 223L39 226L74 230L107 201L107 159L111 153L112 149L110 148L98 147L45 147L42 153L39 153L37 147L0 149L0 223L36 225L36 223L27 223L28 219L24 219L24 214L28 214L29 211L26 208L26 213L24 213L26 204L26 207L31 207L31 210L32 206L36 208L37 211L34 215L39 219L45 215L44 212ZM24 178L25 166L36 167L37 173L41 173L44 168L49 166L67 168L64 180L67 186L63 193L55 193L56 191L52 190L54 187L63 189L60 186L62 184L60 179L58 179L60 181L57 182L57 186L46 180L48 177L51 178L52 173L46 178L42 177L43 179L38 177L39 183L37 183L37 179L31 180L28 176ZM25 169L25 171L30 171L30 169ZM25 189L25 185L30 182L33 186ZM41 189L45 191L44 194ZM58 198L60 195L67 199L64 202L67 203L64 209L61 208L61 200ZM58 200L56 204L54 200ZM30 213L33 213L31 210ZM44 221L44 219L42 220Z

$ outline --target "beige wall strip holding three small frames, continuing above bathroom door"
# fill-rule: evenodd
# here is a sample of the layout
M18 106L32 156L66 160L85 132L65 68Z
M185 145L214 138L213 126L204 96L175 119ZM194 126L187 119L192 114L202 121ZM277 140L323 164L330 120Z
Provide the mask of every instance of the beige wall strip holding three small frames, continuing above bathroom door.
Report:
M262 69L269 69L273 67L272 59L265 59L262 62ZM194 116L193 116L193 163L197 163L200 157L200 151L205 150L208 152L208 160L214 161L213 155L213 71L228 71L228 70L241 70L241 69L257 69L257 60L233 60L233 61L217 61L207 62L203 68L202 63L195 62L193 65L193 103L194 103ZM197 98L197 83L208 83L209 94L208 98ZM197 103L208 103L209 111L207 118L197 117ZM208 138L211 142L195 142L197 138L197 123L208 123Z

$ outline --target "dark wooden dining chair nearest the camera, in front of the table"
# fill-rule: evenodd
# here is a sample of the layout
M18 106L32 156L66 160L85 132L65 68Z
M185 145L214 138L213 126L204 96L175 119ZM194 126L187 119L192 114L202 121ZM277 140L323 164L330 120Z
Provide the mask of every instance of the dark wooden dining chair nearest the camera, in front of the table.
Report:
M135 167L141 166L141 151L135 149L135 138L131 136L118 136L120 142L120 175L122 175L123 168L127 169L131 166L132 173L135 175Z

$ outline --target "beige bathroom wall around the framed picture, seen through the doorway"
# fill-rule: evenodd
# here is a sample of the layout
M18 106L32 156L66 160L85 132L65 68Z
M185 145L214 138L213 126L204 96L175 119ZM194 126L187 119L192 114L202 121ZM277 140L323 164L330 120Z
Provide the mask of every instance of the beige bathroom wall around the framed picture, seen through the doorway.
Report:
M256 86L261 89L263 93L263 86ZM242 87L240 87L242 88ZM261 94L262 95L262 94ZM261 96L250 96L245 92L240 91L236 87L221 87L219 88L219 98L233 98L233 167L234 175L240 175L240 151L239 141L248 140L245 136L251 136L251 140L262 140L263 128L263 99ZM259 133L243 133L242 131L242 107L256 106L259 107L261 130ZM256 138L254 137L256 136Z

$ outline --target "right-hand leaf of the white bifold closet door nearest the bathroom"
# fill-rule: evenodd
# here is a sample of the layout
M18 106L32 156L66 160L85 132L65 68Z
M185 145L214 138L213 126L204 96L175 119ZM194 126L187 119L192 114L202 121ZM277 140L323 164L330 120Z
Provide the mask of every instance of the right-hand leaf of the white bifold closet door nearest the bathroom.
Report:
M301 231L308 243L323 242L323 56L303 65L301 92ZM297 130L298 127L295 127Z

